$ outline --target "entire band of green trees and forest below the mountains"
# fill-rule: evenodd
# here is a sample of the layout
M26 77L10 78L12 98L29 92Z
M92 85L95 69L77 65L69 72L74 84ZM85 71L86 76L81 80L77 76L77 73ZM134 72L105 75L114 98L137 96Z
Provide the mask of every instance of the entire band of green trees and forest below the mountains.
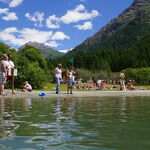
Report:
M124 72L126 79L133 79L139 84L150 84L150 34L145 35L131 48L100 49L91 51L81 50L72 55L65 55L57 59L45 59L40 50L26 46L20 51L0 43L0 57L11 54L18 76L15 77L15 87L21 88L24 81L29 81L33 88L43 88L44 83L53 81L52 70L58 63L63 68L72 66L69 62L73 58L73 67L78 77L83 80L92 78L117 79L118 72Z

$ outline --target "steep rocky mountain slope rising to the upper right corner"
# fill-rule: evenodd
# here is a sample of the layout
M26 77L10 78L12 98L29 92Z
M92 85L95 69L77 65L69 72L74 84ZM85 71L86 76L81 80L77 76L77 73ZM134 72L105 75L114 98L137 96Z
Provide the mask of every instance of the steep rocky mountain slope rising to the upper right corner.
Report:
M80 50L129 48L147 33L150 33L150 1L134 0L133 4L118 17L68 54Z

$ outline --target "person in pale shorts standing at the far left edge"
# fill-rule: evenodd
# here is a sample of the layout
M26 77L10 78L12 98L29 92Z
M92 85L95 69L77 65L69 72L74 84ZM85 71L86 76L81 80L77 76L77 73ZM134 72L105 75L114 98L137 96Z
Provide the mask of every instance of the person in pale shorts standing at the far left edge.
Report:
M6 83L7 76L7 54L3 54L2 59L0 61L0 94L6 95L4 92L4 85Z

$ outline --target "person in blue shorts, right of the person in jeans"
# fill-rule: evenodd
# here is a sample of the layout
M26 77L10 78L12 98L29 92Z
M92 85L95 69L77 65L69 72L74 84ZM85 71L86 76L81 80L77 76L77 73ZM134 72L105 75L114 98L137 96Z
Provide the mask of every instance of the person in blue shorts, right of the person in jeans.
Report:
M72 93L72 87L75 84L74 82L74 72L72 71L71 68L67 71L67 94L73 94Z

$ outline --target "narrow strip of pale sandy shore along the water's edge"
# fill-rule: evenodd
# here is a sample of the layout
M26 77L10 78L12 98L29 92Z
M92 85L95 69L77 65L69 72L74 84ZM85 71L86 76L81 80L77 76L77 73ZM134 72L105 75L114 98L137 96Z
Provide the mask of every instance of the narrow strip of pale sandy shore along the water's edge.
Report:
M5 90L6 96L0 95L1 98L40 98L38 94L41 91L22 92L15 91L16 94L12 94L11 90ZM136 91L74 91L73 94L67 94L66 91L62 91L60 94L55 94L55 91L44 91L45 98L88 98L88 97L141 97L150 96L150 90L136 90Z

